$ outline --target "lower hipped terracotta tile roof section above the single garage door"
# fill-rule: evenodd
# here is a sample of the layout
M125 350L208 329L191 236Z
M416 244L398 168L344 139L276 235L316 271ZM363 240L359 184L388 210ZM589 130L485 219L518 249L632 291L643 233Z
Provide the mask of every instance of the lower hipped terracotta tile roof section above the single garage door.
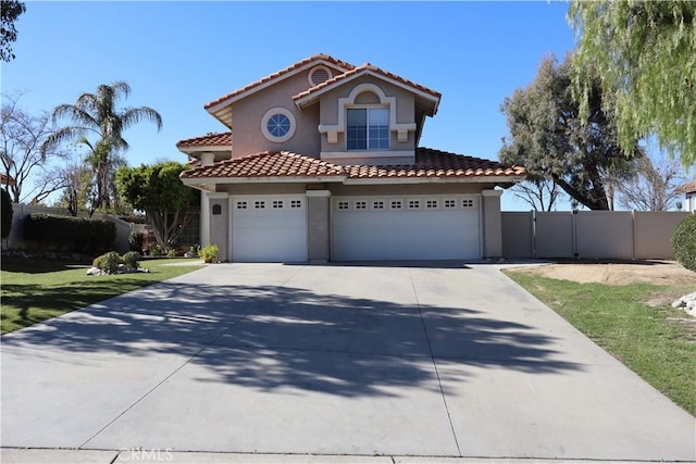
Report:
M344 176L343 167L289 151L264 151L184 171L183 178Z

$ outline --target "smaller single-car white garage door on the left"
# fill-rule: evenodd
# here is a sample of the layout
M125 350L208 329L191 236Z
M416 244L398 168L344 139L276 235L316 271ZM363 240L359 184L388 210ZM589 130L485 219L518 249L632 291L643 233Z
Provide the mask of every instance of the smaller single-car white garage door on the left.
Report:
M232 261L307 261L307 197L234 197Z

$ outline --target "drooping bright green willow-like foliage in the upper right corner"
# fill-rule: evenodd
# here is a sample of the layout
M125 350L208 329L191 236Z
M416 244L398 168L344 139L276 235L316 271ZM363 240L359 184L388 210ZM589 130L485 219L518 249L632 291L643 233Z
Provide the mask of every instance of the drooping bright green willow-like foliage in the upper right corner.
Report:
M682 164L694 164L696 2L573 0L568 16L579 38L573 64L594 70L613 96L624 150L655 134ZM589 92L586 81L575 84Z

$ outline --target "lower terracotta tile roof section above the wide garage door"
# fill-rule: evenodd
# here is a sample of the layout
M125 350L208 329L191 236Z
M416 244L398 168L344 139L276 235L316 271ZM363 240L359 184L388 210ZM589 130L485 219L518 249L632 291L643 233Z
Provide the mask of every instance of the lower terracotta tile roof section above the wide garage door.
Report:
M403 166L346 166L350 178L394 177L493 177L524 176L522 166L511 166L497 161L464 156L446 151L419 148L415 164Z

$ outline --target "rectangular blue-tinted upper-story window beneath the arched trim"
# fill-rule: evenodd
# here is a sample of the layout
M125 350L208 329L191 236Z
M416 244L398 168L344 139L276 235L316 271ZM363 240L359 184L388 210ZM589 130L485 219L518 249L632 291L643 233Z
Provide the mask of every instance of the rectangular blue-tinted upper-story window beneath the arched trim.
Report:
M349 108L346 114L346 149L389 148L388 108Z

